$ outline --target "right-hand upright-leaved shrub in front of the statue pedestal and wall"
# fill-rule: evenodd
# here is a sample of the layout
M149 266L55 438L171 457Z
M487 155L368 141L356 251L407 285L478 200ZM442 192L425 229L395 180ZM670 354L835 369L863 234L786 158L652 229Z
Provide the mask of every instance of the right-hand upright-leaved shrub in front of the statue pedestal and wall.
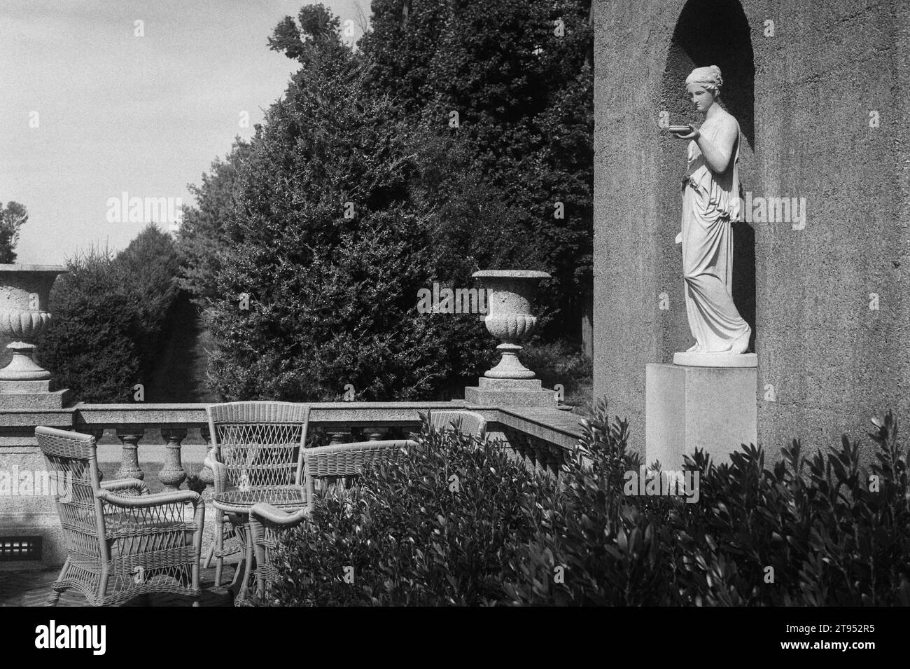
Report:
M534 501L551 511L521 551L512 603L910 605L910 451L890 413L874 421L868 470L846 437L811 459L794 441L771 470L753 446L721 465L696 451L695 503L625 495L618 475L641 462L604 416L584 421L561 489Z

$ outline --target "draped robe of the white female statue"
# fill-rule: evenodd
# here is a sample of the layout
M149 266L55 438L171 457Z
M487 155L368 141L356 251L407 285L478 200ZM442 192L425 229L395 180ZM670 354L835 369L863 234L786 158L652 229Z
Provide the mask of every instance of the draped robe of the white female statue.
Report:
M701 133L714 143L720 118L707 121ZM734 119L735 122L735 119ZM682 180L682 272L692 351L743 353L752 329L733 304L733 228L740 216L739 147L736 126L730 165L714 174L701 149L689 143L688 169Z

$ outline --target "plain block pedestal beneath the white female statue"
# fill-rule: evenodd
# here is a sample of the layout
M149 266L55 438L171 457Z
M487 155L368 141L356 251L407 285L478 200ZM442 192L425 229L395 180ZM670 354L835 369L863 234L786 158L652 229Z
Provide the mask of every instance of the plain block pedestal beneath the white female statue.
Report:
M645 463L681 470L683 456L696 448L720 463L743 443L756 443L757 385L754 366L647 365Z

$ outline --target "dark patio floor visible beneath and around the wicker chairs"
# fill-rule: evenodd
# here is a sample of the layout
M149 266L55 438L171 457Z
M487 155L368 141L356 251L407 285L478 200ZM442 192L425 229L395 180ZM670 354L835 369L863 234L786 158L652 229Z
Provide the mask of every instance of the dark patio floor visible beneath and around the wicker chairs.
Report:
M203 569L199 574L202 582L202 599L200 606L231 606L234 596L228 591L230 580L234 578L234 564L225 564L221 575L224 582L221 587L215 586L215 567ZM47 595L51 592L51 583L56 579L59 569L29 570L22 572L0 572L0 607L2 606L44 606ZM123 606L189 606L188 597L176 594L153 594L147 598L138 597L122 604ZM57 606L86 606L86 598L75 591L66 591L60 595Z

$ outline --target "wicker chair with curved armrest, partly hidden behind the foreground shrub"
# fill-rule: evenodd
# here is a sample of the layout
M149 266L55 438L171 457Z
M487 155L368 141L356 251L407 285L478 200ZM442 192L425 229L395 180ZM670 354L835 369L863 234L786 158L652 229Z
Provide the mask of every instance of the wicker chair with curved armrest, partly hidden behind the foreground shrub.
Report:
M249 513L249 527L257 565L257 593L265 596L268 593L268 586L278 579L273 556L282 534L298 526L316 508L318 479L322 481L324 492L329 485L337 484L339 481L346 482L348 477L357 476L379 463L397 461L403 449L414 446L419 444L410 440L386 440L357 441L307 449L304 455L307 508L288 511L271 504L259 503Z

